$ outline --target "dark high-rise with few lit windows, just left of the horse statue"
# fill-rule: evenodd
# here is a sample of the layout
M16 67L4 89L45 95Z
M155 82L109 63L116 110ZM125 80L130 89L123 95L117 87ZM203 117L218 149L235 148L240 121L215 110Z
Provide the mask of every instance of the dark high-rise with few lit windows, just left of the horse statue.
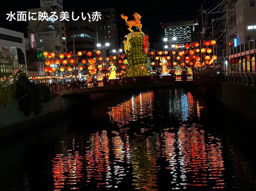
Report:
M107 56L113 55L113 50L118 51L121 47L118 44L118 33L116 29L116 15L115 9L100 9L95 10L101 13L101 19L93 21L96 25L97 43L104 45L109 43L107 48ZM91 11L91 15L92 12Z

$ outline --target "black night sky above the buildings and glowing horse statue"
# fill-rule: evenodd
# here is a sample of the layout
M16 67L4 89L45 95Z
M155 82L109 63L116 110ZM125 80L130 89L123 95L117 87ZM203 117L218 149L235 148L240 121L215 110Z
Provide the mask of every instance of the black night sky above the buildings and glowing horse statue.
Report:
M151 40L154 42L160 42L160 24L166 22L176 22L182 20L197 19L201 20L201 7L203 9L213 9L220 2L218 1L116 1L116 3L110 3L106 0L98 1L78 1L78 0L63 0L63 10L71 12L74 11L76 15L81 15L81 12L85 14L92 10L100 10L107 8L116 9L116 24L118 34L124 36L129 33L124 19L121 18L121 14L128 16L128 20L133 20L133 13L138 12L141 15L142 31L143 27L147 27L151 30ZM108 2L108 3L107 3ZM0 27L19 31L25 33L26 22L25 21L8 21L6 20L6 13L16 13L17 11L27 11L27 9L40 7L40 0L27 0L18 1L12 6L3 7L0 12L2 22Z

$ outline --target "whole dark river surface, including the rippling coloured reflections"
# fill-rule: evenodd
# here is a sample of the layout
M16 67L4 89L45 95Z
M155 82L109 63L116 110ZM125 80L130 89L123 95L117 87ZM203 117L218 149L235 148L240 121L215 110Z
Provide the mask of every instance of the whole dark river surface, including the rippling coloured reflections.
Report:
M33 129L1 141L0 190L256 190L255 134L185 89L81 100Z

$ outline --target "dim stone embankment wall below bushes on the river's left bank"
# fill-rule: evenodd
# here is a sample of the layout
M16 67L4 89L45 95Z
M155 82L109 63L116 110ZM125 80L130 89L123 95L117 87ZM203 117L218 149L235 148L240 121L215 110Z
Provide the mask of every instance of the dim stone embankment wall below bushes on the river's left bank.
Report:
M0 105L0 138L26 131L38 124L49 124L50 120L58 119L67 113L73 116L79 111L80 107L93 103L93 100L108 97L108 95L110 94L98 93L67 97L59 95L57 98L44 103L44 108L40 114L32 113L28 117L25 116L23 111L19 111L17 102L9 104L5 108Z

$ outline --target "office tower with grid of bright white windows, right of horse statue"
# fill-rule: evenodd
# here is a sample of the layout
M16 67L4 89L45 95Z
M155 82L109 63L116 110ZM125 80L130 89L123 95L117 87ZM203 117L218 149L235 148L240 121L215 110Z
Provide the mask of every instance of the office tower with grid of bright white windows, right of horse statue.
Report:
M173 43L175 44L186 44L193 42L195 40L194 33L196 31L197 26L199 25L196 22L196 20L187 20L162 24L164 37L168 40L172 40L173 37L176 37L177 40L173 41ZM165 45L167 45L167 43Z

